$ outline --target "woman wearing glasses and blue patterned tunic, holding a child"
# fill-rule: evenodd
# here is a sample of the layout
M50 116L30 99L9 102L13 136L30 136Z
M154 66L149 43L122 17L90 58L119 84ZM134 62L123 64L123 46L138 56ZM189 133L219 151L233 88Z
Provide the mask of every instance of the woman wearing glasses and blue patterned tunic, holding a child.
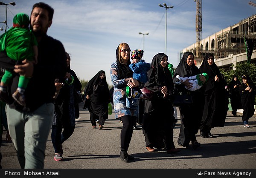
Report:
M116 62L112 63L110 69L111 81L114 86L113 103L115 118L121 119L122 130L120 133L121 152L120 159L124 162L134 160L128 155L128 147L131 141L134 119L139 114L139 100L129 100L126 95L126 86L141 89L140 82L132 78L133 72L129 68L131 49L127 43L121 43L116 49Z

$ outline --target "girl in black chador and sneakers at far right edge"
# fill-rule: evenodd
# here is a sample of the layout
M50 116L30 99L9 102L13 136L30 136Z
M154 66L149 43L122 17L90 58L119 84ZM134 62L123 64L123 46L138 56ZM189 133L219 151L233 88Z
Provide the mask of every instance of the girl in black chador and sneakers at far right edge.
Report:
M253 81L250 79L249 75L242 76L242 84L239 88L239 93L241 95L241 102L244 109L242 115L242 121L244 121L244 127L250 127L248 125L248 120L254 114L254 102L256 95L256 88Z

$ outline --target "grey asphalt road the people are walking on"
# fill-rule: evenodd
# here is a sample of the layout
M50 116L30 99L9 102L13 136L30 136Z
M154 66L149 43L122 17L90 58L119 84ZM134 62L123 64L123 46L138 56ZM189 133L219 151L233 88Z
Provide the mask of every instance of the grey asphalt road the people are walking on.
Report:
M81 106L83 103L81 103ZM80 107L81 108L81 107ZM241 115L241 113L240 113ZM47 141L44 167L47 169L255 169L256 161L256 118L250 118L250 128L244 128L241 117L233 117L228 112L224 127L212 129L215 138L197 139L201 147L183 148L177 145L180 120L174 129L174 142L181 151L175 154L166 152L148 152L141 125L134 130L128 153L135 157L131 163L119 158L120 130L122 123L109 115L102 130L92 129L87 110L80 111L73 135L64 142L64 161L53 160L54 150L51 137ZM2 136L1 153L3 168L20 168L13 144L6 143L6 131Z

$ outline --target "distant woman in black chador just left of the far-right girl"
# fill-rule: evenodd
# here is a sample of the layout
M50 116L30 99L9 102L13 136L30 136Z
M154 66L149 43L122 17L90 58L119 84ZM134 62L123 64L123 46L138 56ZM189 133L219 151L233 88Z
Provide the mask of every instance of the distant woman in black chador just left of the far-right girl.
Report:
M242 109L241 104L241 96L239 93L239 88L241 86L241 82L239 81L237 75L233 75L231 82L228 84L228 88L230 89L230 103L232 107L232 114L236 116L237 109Z

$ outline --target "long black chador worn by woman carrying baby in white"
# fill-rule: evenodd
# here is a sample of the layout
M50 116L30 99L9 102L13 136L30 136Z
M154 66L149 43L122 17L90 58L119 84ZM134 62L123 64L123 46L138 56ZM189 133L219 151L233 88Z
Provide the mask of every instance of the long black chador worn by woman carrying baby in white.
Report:
M195 66L195 63L193 63L192 66L189 66L186 63L189 55L193 55L193 53L185 52L180 60L173 76L174 82L178 81L176 75L180 75L181 77L190 77L201 73L198 67ZM198 133L198 127L204 110L204 87L199 90L189 91L183 84L175 85L175 92L189 92L192 95L191 104L183 104L180 106L181 126L178 144L185 147L189 146L190 141L192 143L196 141L195 135Z

